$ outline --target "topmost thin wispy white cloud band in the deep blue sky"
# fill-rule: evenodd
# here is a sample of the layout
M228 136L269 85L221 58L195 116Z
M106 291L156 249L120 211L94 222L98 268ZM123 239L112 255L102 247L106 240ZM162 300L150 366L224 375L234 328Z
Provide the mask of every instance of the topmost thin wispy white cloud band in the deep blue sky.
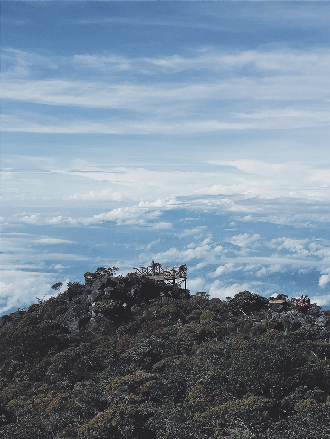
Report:
M12 74L21 67L33 71L42 67L49 69L71 68L73 71L92 68L95 75L105 71L125 71L134 69L141 75L157 72L217 71L224 76L233 70L248 67L247 74L269 75L269 72L294 72L304 77L309 74L327 74L330 68L328 47L292 49L283 45L276 49L231 50L212 46L201 46L185 50L186 54L167 56L123 56L113 52L84 53L71 56L45 55L37 51L28 52L7 47L2 50L3 66ZM24 70L23 70L24 71Z

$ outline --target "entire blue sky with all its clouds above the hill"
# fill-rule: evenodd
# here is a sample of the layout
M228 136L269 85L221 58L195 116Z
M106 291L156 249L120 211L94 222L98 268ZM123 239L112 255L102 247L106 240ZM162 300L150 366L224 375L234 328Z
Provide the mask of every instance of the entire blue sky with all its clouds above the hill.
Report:
M1 314L152 259L330 307L328 2L1 3Z

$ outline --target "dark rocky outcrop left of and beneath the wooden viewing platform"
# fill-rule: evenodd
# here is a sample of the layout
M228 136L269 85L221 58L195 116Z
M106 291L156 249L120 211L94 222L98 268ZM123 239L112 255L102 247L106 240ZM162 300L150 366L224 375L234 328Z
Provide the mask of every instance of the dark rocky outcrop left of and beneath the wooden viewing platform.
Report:
M189 291L176 285L135 275L123 277L114 274L115 270L104 267L99 267L94 273L85 273L85 285L79 282L69 284L67 291L44 303L31 305L28 311L20 310L0 317L0 328L26 314L38 316L46 313L47 318L51 317L72 332L79 332L90 328L98 316L119 321L132 307L141 306L152 299L190 297Z

